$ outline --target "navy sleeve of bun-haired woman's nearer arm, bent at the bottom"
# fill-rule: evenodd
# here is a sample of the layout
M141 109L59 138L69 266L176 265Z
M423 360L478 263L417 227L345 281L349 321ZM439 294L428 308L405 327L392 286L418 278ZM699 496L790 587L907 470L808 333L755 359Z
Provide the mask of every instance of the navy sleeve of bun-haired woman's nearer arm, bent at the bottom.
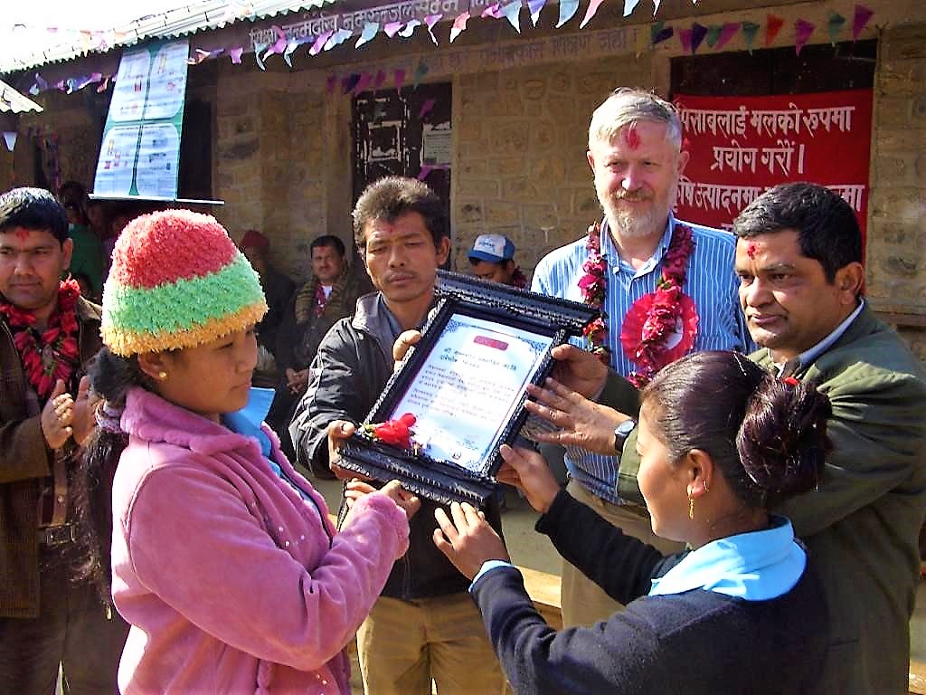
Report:
M484 575L473 597L516 692L643 692L648 691L643 684L653 685L659 673L654 669L665 669L654 626L635 610L615 613L590 628L557 632L533 607L514 567Z

